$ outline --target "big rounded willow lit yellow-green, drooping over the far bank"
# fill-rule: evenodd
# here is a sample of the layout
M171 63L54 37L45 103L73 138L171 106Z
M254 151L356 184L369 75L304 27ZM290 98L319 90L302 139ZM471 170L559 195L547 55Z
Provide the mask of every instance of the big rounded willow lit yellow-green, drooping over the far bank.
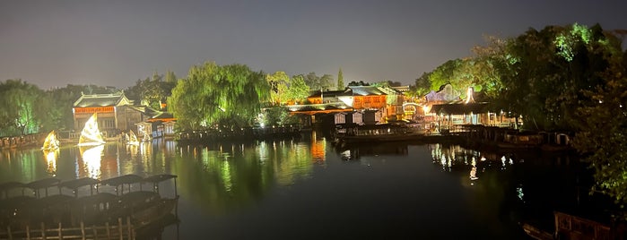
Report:
M269 94L262 72L243 64L205 63L178 82L170 106L181 130L244 127L253 124Z

